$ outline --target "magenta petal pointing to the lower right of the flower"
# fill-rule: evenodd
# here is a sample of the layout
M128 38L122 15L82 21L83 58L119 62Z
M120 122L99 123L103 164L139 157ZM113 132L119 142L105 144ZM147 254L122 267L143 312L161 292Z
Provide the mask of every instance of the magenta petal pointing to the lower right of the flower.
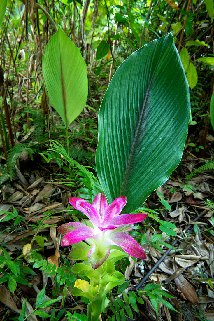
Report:
M109 236L119 247L122 247L129 255L146 259L146 253L138 242L136 242L129 234L125 232L114 232Z

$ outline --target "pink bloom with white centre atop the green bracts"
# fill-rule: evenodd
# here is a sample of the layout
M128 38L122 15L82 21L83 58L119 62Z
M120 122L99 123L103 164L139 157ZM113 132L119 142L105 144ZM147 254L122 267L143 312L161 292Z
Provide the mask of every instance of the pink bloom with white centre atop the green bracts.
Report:
M148 214L121 214L126 204L126 196L116 198L111 204L102 193L98 194L91 205L84 199L70 197L69 202L76 210L84 213L89 220L81 223L70 222L61 225L57 230L64 234L61 246L68 246L85 240L90 245L88 261L93 269L102 265L110 254L111 246L119 246L129 255L141 259L146 253L139 243L129 234L133 223L141 222Z

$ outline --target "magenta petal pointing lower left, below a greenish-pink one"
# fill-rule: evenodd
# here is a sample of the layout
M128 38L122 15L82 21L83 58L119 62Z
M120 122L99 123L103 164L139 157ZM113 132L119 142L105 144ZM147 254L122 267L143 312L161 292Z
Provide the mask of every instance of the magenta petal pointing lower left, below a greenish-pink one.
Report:
M84 224L83 224L84 225ZM90 238L94 235L94 230L91 227L85 226L79 227L69 233L67 233L62 239L61 246L68 246L85 239Z

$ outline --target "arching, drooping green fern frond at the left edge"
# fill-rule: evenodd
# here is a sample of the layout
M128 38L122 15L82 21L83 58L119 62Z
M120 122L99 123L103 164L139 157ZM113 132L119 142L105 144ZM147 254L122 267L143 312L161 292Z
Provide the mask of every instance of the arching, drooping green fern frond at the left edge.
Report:
M16 144L7 155L7 166L9 169L10 180L12 181L15 172L15 165L18 157L22 152L27 151L29 155L32 155L34 151L30 147L26 147L23 144Z

